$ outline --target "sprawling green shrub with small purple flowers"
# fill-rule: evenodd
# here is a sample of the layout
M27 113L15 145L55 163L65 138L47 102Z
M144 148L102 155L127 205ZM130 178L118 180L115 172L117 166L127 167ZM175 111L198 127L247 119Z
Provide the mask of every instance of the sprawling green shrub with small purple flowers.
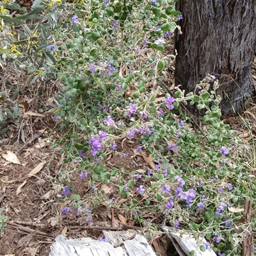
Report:
M145 214L152 212L161 219L157 225L204 236L206 244L198 241L202 251L239 255L241 241L255 225L255 220L241 221L244 197L255 198L256 184L237 132L220 119L215 77L207 76L188 95L180 86L172 95L163 86L175 58L166 45L180 30L175 22L183 19L173 2L82 1L75 6L36 1L27 15L44 13L37 30L21 23L20 39L28 44L20 41L13 52L4 41L1 61L19 63L33 77L31 83L49 77L61 83L50 109L65 134L58 145L68 168L54 178L66 203L61 214L76 214L88 224L95 205L113 205L129 209L143 226ZM198 130L182 111L188 102L206 111ZM131 159L119 147L124 139L136 141L135 155L144 152L154 161L144 172L122 164ZM120 166L106 164L110 152L120 154ZM70 186L74 179L90 188L85 198ZM118 189L115 197L100 189L102 183ZM127 198L122 205L121 198Z

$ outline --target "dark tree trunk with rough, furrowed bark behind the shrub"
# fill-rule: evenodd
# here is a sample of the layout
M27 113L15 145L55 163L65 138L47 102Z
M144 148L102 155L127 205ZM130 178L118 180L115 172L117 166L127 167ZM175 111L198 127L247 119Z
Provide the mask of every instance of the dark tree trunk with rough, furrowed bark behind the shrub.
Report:
M183 19L182 35L175 36L175 84L193 92L207 74L215 75L223 116L241 113L255 93L256 0L179 0L176 10ZM200 115L195 106L189 110Z

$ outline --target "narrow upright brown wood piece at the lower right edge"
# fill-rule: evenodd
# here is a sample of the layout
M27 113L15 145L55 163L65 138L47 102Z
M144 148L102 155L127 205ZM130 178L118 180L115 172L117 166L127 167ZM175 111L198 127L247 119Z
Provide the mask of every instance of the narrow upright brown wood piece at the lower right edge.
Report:
M253 256L254 255L254 245L253 245L253 235L252 235L252 198L244 198L245 200L245 210L244 210L244 222L249 225L246 231L245 238L243 240L243 256Z

